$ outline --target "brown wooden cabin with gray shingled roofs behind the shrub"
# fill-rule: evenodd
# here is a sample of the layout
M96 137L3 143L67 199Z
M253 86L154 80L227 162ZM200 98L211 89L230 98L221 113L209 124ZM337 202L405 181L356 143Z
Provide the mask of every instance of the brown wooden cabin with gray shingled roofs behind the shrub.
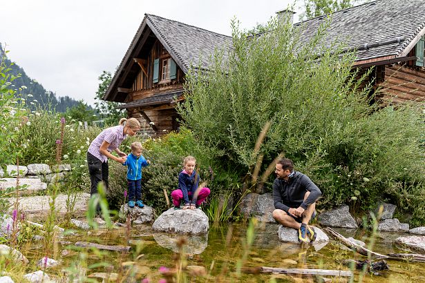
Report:
M425 0L376 0L331 17L323 44L346 43L356 52L360 74L372 68L365 84L373 85L379 104L425 104ZM304 27L301 40L309 41L323 21L296 23ZM151 135L178 130L175 106L184 99L189 68L208 70L215 48L231 45L231 37L146 14L104 100L123 102L120 108Z

